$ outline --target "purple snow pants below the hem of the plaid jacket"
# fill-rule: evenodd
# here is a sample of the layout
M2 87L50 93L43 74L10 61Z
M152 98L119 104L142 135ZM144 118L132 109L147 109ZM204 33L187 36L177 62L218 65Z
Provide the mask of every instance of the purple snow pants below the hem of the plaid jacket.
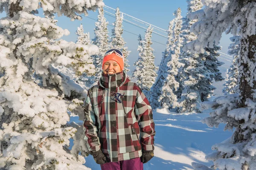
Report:
M134 158L125 161L108 162L101 164L102 170L143 170L143 163L140 158Z

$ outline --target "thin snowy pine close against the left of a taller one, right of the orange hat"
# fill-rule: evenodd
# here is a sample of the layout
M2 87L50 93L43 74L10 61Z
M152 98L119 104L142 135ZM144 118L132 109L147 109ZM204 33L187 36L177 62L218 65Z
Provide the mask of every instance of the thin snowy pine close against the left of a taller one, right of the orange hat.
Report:
M141 35L139 34L139 37L138 37L138 41L139 41L139 45L138 45L138 48L137 48L137 51L139 51L139 57L137 59L136 62L134 62L134 65L136 66L136 68L134 69L134 71L132 72L132 79L137 79L137 83L138 84L141 84L141 79L140 79L140 75L142 73L142 54L143 54L143 40L141 38Z

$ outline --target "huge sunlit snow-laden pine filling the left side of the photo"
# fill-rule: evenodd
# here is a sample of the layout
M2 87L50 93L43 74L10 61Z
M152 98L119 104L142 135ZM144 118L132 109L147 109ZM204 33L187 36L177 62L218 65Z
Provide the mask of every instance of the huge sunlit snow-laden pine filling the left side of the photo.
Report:
M46 16L76 20L103 5L101 0L0 1L7 15L0 19L0 169L87 170L83 156L68 150L77 129L66 125L71 100L82 104L86 93L52 65L93 74L87 62L98 48L61 40L69 32L35 14L40 8Z

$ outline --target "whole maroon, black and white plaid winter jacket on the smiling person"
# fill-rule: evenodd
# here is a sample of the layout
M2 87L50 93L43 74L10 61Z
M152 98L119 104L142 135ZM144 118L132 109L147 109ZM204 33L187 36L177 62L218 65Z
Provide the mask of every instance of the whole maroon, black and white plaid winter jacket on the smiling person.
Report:
M110 81L109 81L110 80ZM154 150L151 106L125 72L103 74L84 102L84 133L90 151L102 150L109 161L140 157Z

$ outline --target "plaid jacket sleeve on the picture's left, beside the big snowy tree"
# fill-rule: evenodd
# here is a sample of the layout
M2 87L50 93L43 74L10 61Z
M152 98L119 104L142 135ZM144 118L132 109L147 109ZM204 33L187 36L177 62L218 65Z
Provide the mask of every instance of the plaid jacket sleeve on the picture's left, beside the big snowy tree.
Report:
M89 90L90 91L90 90ZM90 99L90 93L88 91L87 98L84 102L84 140L87 144L88 150L96 152L100 150L100 142L98 136L98 121L97 116L94 113L93 105Z

